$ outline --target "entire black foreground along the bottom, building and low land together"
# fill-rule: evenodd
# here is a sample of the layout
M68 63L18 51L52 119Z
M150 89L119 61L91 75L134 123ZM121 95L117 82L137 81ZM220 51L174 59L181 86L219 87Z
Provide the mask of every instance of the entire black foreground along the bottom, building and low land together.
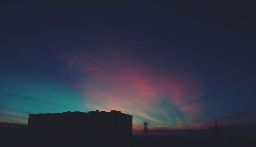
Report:
M120 111L32 114L27 127L0 125L1 146L256 146L256 126L217 122L208 129L132 137L132 116Z

